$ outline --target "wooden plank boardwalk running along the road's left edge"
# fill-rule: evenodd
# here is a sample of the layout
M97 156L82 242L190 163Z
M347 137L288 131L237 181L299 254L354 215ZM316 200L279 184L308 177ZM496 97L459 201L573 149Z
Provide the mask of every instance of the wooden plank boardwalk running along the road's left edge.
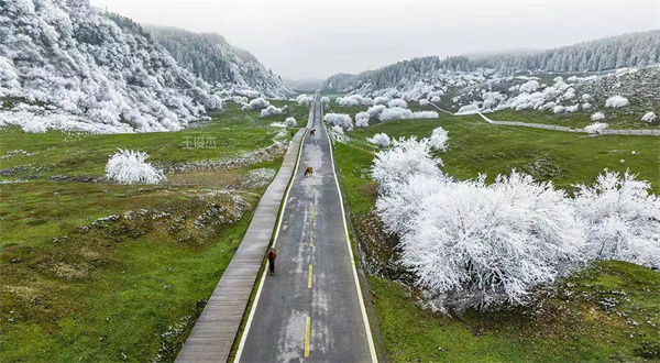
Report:
M279 205L296 168L306 129L294 136L279 172L262 197L243 241L222 274L176 362L227 362L258 270L271 242Z

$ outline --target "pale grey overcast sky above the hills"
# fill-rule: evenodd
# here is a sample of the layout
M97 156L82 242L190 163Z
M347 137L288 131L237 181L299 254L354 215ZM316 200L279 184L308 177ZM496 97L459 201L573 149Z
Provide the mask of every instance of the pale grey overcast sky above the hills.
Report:
M91 0L140 23L217 32L287 78L425 55L547 48L660 28L660 0Z

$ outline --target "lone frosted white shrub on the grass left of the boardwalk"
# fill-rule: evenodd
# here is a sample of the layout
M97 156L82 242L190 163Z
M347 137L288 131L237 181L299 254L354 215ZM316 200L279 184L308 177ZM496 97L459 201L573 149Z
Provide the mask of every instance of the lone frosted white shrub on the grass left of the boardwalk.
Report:
M157 184L165 180L163 172L146 163L145 152L120 148L106 165L106 177L121 184Z

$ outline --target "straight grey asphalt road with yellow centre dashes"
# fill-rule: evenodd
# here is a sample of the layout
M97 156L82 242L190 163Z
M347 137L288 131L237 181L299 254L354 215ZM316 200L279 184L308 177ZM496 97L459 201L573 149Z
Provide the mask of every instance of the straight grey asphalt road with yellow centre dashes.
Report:
M260 289L241 362L375 360L318 95L310 128L275 241L275 275Z

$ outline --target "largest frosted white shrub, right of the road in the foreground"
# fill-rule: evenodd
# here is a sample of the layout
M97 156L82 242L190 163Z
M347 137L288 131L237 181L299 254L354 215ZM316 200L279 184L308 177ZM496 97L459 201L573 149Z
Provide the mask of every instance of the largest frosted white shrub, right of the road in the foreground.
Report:
M397 190L422 188L411 178ZM565 194L515 170L492 185L484 178L436 183L418 200L408 227L400 228L402 263L416 283L437 293L468 293L468 306L496 299L524 304L530 290L552 283L581 258L582 229ZM393 191L397 194L398 191ZM406 206L382 199L378 211Z

